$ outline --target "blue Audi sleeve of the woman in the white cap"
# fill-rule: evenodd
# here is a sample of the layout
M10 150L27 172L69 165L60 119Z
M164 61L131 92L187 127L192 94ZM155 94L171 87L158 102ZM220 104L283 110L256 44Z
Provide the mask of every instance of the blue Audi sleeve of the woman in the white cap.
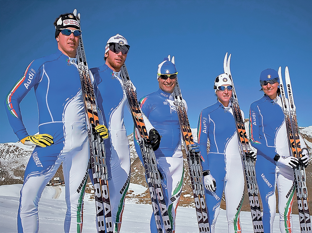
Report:
M202 157L203 171L209 170L208 154L207 154L208 131L209 131L208 114L205 114L205 111L202 110L198 118L197 138L200 147L200 154Z

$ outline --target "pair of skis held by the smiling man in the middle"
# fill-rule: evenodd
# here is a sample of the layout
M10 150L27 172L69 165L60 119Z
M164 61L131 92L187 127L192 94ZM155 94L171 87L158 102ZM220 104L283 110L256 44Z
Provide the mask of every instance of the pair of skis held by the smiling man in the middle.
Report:
M168 56L170 61L170 55ZM174 64L174 56L171 62ZM193 195L195 201L195 208L197 214L197 221L199 232L210 232L209 219L207 215L207 207L205 202L204 184L202 181L202 166L200 164L200 153L188 150L188 146L194 143L193 134L191 131L188 115L185 105L182 101L182 94L178 84L173 89L174 104L178 113L181 133L184 142L184 148L188 160L188 169L190 172L191 184L193 188Z

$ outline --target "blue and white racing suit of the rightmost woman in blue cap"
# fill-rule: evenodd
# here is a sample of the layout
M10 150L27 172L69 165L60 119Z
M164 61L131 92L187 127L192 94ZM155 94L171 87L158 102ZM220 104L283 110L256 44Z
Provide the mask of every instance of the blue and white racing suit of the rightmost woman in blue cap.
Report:
M280 97L271 100L270 97L264 95L250 105L249 134L251 146L257 149L256 178L263 206L264 232L273 232L276 186L279 199L280 232L292 232L294 170L285 165L276 165L274 160L276 154L291 156ZM305 142L301 137L300 145L301 148L305 147Z

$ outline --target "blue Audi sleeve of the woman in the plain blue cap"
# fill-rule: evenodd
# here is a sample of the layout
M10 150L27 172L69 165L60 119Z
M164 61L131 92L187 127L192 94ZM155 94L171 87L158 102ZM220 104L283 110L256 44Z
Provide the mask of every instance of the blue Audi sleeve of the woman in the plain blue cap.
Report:
M257 151L261 151L261 153L270 161L276 155L275 147L269 147L266 144L264 136L261 137L260 132L263 129L261 124L261 114L259 112L259 108L256 104L251 104L249 111L249 137L251 146L255 147Z

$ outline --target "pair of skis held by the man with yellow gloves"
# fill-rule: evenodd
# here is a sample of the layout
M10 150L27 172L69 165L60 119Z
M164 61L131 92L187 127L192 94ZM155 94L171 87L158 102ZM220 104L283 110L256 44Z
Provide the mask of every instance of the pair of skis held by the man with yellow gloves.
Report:
M74 15L77 15L76 9L74 10ZM80 21L80 13L78 14L78 20ZM92 132L92 129L99 124L99 117L81 35L77 47L77 58L81 89L85 103L85 115L87 118L90 160L95 192L97 231L99 233L112 233L113 223L107 181L108 173L105 163L105 147L103 140Z

